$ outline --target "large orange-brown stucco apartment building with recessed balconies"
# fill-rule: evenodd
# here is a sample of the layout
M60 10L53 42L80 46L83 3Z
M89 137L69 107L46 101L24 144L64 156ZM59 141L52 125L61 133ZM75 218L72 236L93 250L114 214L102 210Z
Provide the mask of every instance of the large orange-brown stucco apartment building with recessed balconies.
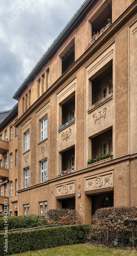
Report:
M1 151L17 151L13 215L70 208L90 223L97 208L136 205L136 16L133 0L85 1L16 91L17 138Z

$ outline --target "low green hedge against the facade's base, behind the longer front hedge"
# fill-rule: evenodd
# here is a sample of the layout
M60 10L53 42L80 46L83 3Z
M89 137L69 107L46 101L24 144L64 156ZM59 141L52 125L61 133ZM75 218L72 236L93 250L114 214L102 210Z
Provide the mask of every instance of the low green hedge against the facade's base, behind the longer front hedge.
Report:
M8 216L8 230L44 226L47 222L42 216ZM4 230L4 224L4 217L0 218L0 230Z

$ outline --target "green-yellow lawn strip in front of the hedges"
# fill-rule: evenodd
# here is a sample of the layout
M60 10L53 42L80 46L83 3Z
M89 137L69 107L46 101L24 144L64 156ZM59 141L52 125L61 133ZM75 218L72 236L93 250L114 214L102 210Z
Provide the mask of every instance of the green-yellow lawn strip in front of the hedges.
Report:
M135 256L136 250L126 250L120 248L102 248L88 244L66 245L38 251L28 251L25 253L14 254L20 256Z

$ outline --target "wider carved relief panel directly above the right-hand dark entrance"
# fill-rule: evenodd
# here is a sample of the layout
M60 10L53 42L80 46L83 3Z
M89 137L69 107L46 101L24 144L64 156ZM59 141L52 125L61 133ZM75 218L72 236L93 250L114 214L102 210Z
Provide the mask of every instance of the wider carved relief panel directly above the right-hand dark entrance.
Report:
M113 171L85 178L85 191L113 187Z

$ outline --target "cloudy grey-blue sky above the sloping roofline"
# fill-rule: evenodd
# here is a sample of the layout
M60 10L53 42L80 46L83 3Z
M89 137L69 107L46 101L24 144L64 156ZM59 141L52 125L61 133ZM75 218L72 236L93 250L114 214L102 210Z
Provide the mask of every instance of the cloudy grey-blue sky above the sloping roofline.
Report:
M84 0L1 0L0 112Z

